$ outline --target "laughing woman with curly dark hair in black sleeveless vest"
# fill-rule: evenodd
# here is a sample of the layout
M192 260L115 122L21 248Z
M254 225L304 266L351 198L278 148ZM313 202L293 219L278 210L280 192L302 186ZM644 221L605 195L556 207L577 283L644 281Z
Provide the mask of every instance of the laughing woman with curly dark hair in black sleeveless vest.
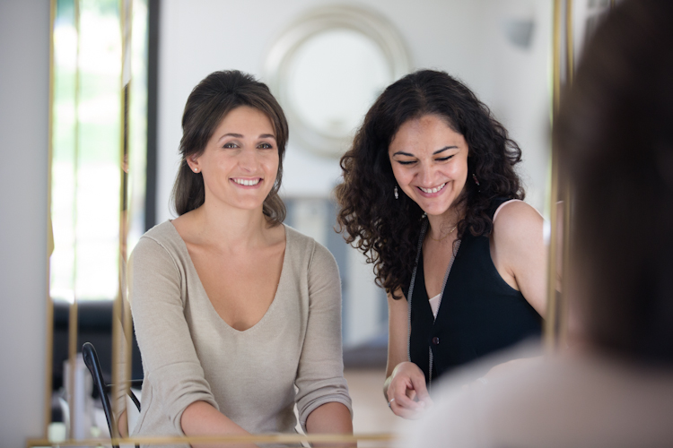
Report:
M431 70L390 85L341 159L337 219L388 292L384 392L401 417L451 368L540 333L543 220L520 159L485 104Z

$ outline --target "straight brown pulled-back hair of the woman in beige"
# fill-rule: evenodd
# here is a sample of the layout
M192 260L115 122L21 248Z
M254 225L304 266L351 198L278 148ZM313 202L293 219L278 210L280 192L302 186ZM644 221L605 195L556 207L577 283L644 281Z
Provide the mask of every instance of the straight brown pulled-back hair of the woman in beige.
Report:
M264 200L263 212L273 225L284 221L286 210L278 195L283 178L283 159L288 138L287 121L283 109L267 85L238 70L210 73L189 94L182 115L180 140L180 167L173 185L173 206L178 215L200 207L205 201L202 173L193 172L187 158L203 154L205 145L229 112L241 106L256 108L264 113L274 126L278 144L278 173L275 184Z

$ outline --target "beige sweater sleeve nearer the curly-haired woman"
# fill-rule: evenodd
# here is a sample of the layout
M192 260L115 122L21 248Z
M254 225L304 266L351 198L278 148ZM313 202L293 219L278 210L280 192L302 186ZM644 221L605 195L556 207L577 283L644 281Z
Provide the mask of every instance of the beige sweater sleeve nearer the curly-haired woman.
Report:
M295 384L304 432L313 409L337 401L353 416L341 347L341 280L334 256L315 244L309 263L309 322Z

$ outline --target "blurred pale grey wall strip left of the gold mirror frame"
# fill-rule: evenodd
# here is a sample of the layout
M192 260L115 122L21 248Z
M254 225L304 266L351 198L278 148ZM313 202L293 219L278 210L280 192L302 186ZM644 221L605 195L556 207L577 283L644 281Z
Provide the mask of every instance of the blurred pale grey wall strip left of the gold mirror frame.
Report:
M49 2L0 2L0 446L41 437Z

